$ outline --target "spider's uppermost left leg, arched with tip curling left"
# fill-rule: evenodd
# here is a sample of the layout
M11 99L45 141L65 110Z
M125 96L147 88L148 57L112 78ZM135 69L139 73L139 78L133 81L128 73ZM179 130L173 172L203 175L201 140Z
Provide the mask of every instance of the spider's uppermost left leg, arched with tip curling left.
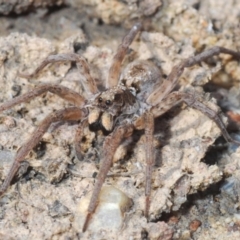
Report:
M87 92L90 92L91 94L97 93L98 92L97 85L95 80L92 78L90 74L87 61L76 53L62 53L57 55L50 55L40 64L40 66L33 73L31 74L19 73L18 75L23 78L31 78L38 74L45 66L47 66L50 63L69 61L76 62L80 74L85 77L85 80L83 82L84 89Z

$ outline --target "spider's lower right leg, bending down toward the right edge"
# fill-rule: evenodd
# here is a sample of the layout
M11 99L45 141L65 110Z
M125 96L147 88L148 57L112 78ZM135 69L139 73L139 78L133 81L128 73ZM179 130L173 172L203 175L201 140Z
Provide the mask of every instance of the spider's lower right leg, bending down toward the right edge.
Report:
M212 119L220 128L223 137L227 142L240 144L240 142L231 138L228 134L225 124L219 116L219 113L207 106L203 99L196 97L193 93L172 92L161 103L151 109L154 117L159 117L171 109L173 106L185 102L189 107L195 108Z

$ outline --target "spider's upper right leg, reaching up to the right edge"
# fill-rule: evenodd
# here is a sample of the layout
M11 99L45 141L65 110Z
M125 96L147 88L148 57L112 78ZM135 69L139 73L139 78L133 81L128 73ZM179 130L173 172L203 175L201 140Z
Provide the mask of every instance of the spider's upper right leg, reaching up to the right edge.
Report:
M240 59L240 52L236 52L223 47L210 48L196 56L183 60L180 64L173 67L171 73L167 79L161 84L160 87L156 88L147 98L147 103L156 105L160 103L177 85L180 76L182 75L184 68L196 65L206 59L219 55L221 53L229 54L233 58Z

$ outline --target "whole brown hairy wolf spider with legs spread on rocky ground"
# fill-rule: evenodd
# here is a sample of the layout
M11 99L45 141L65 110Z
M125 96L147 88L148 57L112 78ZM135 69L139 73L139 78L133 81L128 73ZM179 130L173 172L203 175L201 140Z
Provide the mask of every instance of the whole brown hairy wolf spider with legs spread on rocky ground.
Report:
M68 107L51 113L39 124L29 140L16 153L12 167L1 186L0 195L7 190L20 167L20 163L25 159L26 155L39 143L49 126L57 121L81 120L74 141L77 153L81 150L79 143L82 139L84 127L87 125L97 126L108 132L108 136L103 144L101 153L102 162L88 206L83 231L87 229L91 216L97 206L100 190L112 165L113 156L117 147L124 139L130 137L135 129L144 129L145 132L145 216L148 216L151 176L155 163L153 147L154 119L167 112L173 106L184 102L188 106L201 111L218 125L224 138L228 142L239 144L239 142L233 140L228 134L218 112L209 108L203 99L193 93L173 91L173 89L176 87L185 68L198 64L214 55L219 55L220 53L230 54L234 58L240 59L240 53L223 47L213 47L196 56L182 60L181 63L173 67L171 73L162 83L160 83L160 72L155 65L150 62L135 62L129 69L130 75L135 75L136 77L135 82L131 82L128 79L120 79L121 63L128 51L129 45L140 30L141 24L137 23L123 38L113 58L109 76L106 81L106 90L104 91L98 90L95 80L91 77L86 60L75 53L51 55L47 57L32 74L20 74L21 77L30 78L49 63L64 61L76 62L78 70L85 77L83 87L88 93L89 98L86 99L77 92L64 86L43 84L29 93L16 97L0 106L0 111L4 111L16 104L29 101L48 91L75 105L75 107Z

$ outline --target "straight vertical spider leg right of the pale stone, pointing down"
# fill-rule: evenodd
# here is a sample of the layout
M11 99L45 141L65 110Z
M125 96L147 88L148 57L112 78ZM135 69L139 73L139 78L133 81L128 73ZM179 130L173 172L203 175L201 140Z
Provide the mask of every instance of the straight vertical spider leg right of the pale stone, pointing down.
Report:
M150 194L152 185L152 170L155 164L154 147L153 147L153 131L154 131L154 116L151 112L144 115L145 120L145 153L146 153L146 185L145 185L145 217L148 218L150 208Z

